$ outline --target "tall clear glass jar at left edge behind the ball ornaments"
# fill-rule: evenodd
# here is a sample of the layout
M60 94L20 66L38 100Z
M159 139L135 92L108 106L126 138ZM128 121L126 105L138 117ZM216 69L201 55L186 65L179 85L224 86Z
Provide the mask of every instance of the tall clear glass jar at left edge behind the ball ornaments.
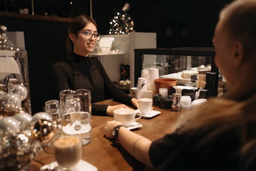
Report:
M0 26L0 90L8 92L13 83L25 86L28 95L22 110L31 114L27 51L15 46L6 32L7 27Z

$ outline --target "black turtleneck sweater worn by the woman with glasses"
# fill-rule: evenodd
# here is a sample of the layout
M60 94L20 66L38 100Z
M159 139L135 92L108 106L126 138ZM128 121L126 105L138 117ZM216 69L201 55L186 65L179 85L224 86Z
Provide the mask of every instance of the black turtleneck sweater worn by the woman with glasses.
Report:
M113 98L114 100L132 106L131 99L132 97L125 94L123 91L117 89L113 82L110 80L109 76L106 74L103 66L97 60L97 58L84 57L77 54L73 54L75 58L74 62L77 65L78 71L83 75L83 77L87 77L90 80L92 85L92 78L90 75L90 68L92 67L92 63L96 66L96 69L99 71L100 75L103 79L102 88L104 89L104 99ZM91 61L93 60L93 62ZM74 90L74 70L71 66L71 62L67 59L65 61L57 62L52 66L51 74L53 78L53 86L55 88L56 95L59 95L59 92L66 89ZM81 88L89 89L88 84L84 82L79 82ZM90 89L89 89L90 90ZM106 115L106 108L108 105L104 104L94 104L98 102L95 100L94 96L97 92L91 90L92 96L92 115Z

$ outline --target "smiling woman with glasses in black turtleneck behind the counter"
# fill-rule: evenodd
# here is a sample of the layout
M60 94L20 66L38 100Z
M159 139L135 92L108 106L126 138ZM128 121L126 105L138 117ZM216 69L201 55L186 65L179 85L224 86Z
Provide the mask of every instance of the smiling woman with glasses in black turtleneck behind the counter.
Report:
M113 116L115 109L128 108L124 104L138 108L138 100L117 89L97 58L89 57L99 39L100 34L94 19L80 15L72 20L66 42L68 58L52 66L56 93L66 89L90 90L93 115ZM109 98L124 104L93 104Z

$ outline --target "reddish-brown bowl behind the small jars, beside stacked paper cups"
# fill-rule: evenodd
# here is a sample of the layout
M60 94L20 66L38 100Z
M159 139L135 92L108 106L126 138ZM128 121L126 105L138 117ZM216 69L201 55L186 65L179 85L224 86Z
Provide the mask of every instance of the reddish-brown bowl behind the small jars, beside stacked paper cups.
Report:
M169 95L170 87L177 86L176 79L158 78L158 79L154 79L154 82L155 82L155 94L159 94L160 88L166 88L168 89L168 95Z

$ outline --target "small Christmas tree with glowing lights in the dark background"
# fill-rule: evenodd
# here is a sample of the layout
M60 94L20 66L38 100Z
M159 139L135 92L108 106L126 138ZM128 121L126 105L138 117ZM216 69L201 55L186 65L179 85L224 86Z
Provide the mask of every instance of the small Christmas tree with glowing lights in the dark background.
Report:
M116 13L110 21L109 34L129 34L134 31L134 21L128 13L129 10L130 5L125 3L122 11Z

